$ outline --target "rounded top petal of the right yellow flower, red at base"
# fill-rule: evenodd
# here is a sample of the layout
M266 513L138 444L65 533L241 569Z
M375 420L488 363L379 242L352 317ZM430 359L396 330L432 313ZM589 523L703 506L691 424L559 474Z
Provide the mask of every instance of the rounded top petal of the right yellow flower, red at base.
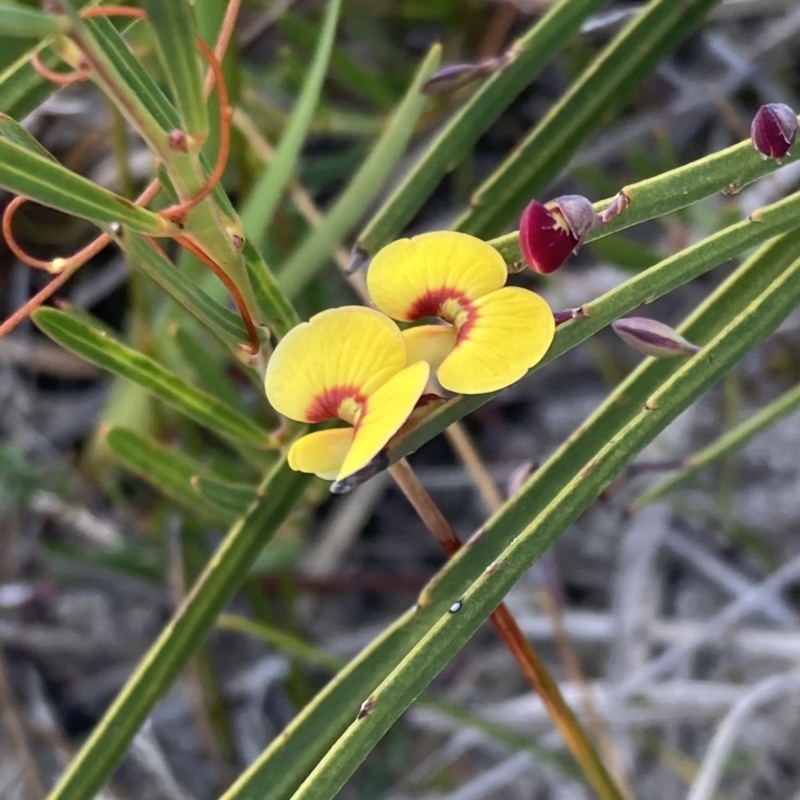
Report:
M503 257L482 239L434 231L398 239L378 252L367 287L384 314L412 321L442 316L436 309L448 297L474 300L504 286L507 276Z

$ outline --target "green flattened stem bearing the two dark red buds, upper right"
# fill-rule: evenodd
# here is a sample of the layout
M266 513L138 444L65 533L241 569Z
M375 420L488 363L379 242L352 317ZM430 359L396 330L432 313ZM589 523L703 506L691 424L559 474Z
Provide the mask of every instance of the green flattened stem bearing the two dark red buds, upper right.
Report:
M800 158L800 148L787 155L781 164L791 163L798 158ZM686 208L718 192L739 191L753 181L774 172L781 164L772 158L762 158L747 139L677 169L638 183L631 183L621 190L628 198L627 208L605 225L589 231L584 241L597 241L640 222ZM595 203L595 210L597 212L605 210L614 200L615 198L610 198ZM508 263L522 258L519 231L492 239L490 244Z

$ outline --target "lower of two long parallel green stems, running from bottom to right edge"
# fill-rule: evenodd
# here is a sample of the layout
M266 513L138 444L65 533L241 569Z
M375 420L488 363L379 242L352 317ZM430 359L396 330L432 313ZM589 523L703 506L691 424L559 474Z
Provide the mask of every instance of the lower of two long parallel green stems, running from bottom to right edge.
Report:
M475 634L531 564L642 447L719 380L749 348L781 324L800 300L800 259L760 294L747 294L752 299L735 316L729 313L724 295L720 303L717 294L715 304L706 306L706 314L725 319L727 324L698 355L680 364L659 385L646 406L633 410L616 436L606 437L596 456L586 462L583 458L575 459L571 480L539 513L525 514L521 526L507 524L505 519L515 512L519 516L517 509L524 508L531 500L534 505L538 504L539 498L532 497L538 493L534 474L506 508L487 524L481 541L499 536L507 543L499 557L465 592L453 597L454 601L460 600L458 613L442 615L387 679L369 691L367 710L351 722L293 795L293 800L334 797L389 727ZM612 397L618 399L617 393ZM465 548L448 562L438 580L443 580L447 573L463 570L464 564L470 561L474 568L475 551Z

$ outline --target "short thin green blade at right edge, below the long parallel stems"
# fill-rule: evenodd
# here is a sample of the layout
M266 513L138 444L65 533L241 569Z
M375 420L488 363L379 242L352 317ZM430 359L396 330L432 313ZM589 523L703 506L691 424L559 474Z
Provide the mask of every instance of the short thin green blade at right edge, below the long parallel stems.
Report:
M762 431L793 414L798 408L800 408L800 386L795 386L762 408L761 411L753 414L747 421L735 426L715 442L684 459L683 466L675 470L672 475L645 489L630 504L631 510L637 511L644 508L644 506L670 494L679 486L685 485L698 472L735 452Z

